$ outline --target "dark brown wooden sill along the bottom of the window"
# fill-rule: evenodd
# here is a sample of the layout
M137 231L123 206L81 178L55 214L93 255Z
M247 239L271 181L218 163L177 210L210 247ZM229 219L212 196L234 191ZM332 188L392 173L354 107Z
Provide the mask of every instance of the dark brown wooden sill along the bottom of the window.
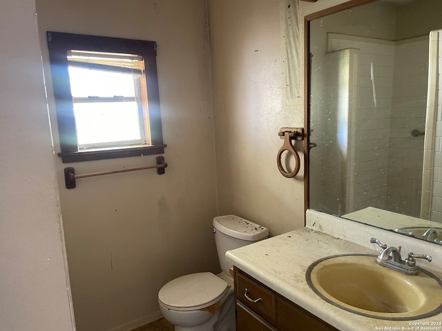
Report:
M141 155L164 154L167 145L131 146L124 148L106 148L102 150L85 150L80 152L58 153L63 163L117 159L120 157L139 157Z

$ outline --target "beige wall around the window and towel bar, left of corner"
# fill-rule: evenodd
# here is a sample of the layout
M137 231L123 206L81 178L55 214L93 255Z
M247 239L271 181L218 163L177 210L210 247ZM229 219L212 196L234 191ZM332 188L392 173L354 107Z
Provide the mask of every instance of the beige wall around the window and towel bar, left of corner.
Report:
M67 190L66 166L84 174L155 157L69 164L55 157L77 330L128 330L160 317L157 292L167 281L220 271L206 1L37 0L37 14L44 61L47 30L157 41L166 173L78 179ZM45 73L59 152L47 66Z

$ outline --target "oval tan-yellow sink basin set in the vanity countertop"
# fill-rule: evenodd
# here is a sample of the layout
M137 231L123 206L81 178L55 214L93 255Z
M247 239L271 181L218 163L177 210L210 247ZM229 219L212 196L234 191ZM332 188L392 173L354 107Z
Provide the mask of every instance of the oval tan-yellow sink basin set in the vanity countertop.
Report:
M406 321L442 312L442 282L418 268L402 274L376 263L374 255L345 254L312 263L307 283L339 308L375 319Z

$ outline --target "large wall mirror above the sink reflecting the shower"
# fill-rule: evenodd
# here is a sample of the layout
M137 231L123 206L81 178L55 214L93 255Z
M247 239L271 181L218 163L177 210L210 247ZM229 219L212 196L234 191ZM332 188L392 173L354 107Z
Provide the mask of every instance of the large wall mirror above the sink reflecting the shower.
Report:
M442 244L441 17L440 0L306 17L309 208Z

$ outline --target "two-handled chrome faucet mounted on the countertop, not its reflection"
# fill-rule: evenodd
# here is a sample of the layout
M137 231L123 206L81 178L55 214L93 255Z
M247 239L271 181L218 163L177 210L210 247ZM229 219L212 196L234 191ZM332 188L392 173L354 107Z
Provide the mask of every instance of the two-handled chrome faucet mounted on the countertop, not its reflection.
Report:
M399 248L387 247L387 245L381 243L381 241L378 241L376 238L370 239L370 243L376 243L382 248L379 251L378 257L376 257L376 263L404 274L418 273L419 270L416 267L415 259L425 259L428 262L432 261L430 255L413 254L412 252L408 253L408 257L403 260L401 256L401 246L399 246Z

